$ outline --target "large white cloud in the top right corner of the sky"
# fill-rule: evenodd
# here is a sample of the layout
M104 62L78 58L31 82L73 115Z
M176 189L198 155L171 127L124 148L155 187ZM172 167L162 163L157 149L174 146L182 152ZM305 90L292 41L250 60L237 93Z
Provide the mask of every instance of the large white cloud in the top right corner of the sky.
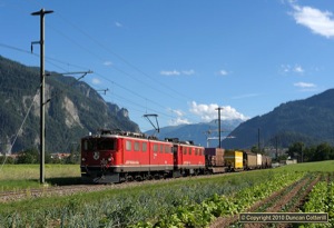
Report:
M330 11L321 11L312 7L301 7L292 3L296 23L307 27L312 32L326 38L334 37L333 13Z

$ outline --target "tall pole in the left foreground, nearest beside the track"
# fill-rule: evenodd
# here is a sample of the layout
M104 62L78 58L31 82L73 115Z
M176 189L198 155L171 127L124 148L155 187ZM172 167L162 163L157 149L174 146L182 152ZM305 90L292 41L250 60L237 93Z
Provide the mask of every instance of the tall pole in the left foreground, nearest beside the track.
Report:
M32 44L40 44L40 184L45 184L45 153L46 153L46 108L45 108L45 14L52 13L52 10L41 9L32 12L31 16L40 16L40 40L31 42Z

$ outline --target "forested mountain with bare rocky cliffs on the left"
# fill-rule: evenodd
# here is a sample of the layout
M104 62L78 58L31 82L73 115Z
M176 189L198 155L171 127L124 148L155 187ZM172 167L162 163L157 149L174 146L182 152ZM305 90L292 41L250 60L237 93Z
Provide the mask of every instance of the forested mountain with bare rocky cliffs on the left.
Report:
M106 102L86 82L55 72L48 75L45 90L47 151L69 151L78 146L82 136L100 128L139 131L127 109ZM12 151L39 147L39 68L0 56L0 152L9 149L17 135Z

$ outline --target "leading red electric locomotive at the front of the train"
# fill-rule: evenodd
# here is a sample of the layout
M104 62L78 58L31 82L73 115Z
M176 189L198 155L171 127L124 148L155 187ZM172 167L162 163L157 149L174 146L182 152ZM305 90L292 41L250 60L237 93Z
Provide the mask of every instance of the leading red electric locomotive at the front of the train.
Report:
M143 133L101 130L81 139L81 177L86 182L122 182L171 176L173 143Z

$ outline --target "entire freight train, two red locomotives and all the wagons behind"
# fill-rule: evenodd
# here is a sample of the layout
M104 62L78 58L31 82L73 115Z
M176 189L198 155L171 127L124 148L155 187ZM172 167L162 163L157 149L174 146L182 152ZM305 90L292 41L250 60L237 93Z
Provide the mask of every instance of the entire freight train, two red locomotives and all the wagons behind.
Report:
M84 182L112 184L269 168L267 156L204 148L177 138L100 130L81 138Z

